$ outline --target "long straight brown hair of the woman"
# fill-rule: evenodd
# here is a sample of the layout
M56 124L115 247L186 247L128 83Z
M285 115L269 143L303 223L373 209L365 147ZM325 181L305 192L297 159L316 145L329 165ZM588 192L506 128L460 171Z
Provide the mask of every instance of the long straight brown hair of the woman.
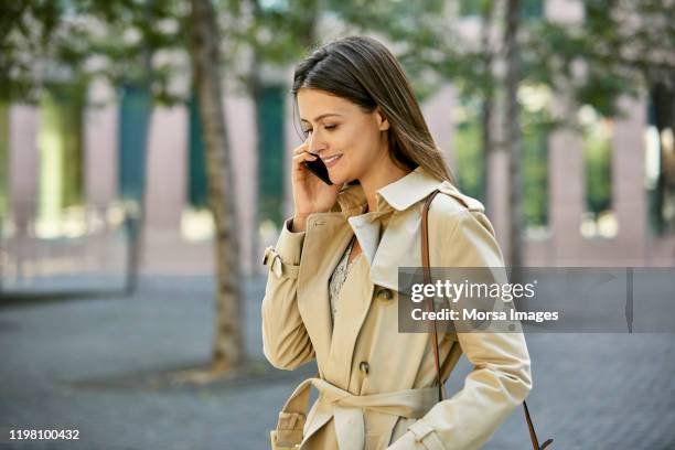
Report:
M379 41L346 36L314 50L296 66L291 94L302 87L325 90L389 121L389 154L397 165L421 165L438 180L453 182L452 172L433 141L400 64Z

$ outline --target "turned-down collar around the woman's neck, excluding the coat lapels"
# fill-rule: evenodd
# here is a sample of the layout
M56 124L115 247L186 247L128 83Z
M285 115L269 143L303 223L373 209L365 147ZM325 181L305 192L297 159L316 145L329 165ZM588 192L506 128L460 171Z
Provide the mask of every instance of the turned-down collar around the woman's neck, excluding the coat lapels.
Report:
M421 165L407 175L381 188L376 193L377 212L405 211L415 203L425 199L433 190L440 188L441 182L429 175ZM338 195L338 205L346 217L362 214L367 200L361 184L346 184Z

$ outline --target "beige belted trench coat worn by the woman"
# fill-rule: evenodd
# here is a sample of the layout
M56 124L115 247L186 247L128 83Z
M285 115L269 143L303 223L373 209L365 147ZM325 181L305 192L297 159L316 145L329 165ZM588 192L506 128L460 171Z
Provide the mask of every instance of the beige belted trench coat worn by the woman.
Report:
M267 249L265 355L283 369L317 358L321 378L307 383L321 394L307 420L281 420L296 428L302 449L478 449L532 388L522 333L444 334L442 379L462 353L474 368L461 390L437 403L430 335L398 333L398 267L421 266L420 213L436 189L442 195L429 210L431 266L503 266L482 204L421 168L381 189L377 211L365 214L363 189L349 186L331 212L309 216L304 233L291 233L287 221ZM331 325L329 277L353 234L363 251Z

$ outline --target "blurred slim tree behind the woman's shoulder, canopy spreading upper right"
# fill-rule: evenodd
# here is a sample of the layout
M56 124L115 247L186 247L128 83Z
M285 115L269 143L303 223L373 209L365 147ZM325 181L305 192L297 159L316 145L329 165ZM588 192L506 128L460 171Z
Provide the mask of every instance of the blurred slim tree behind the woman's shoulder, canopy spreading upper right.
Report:
M490 158L499 148L511 149L511 190L516 191L522 190L519 186L525 181L522 173L518 173L522 169L514 164L529 163L522 157L514 158L513 151L523 146L523 139L514 128L514 122L521 119L519 115L515 116L517 97L514 93L521 86L543 86L549 92L565 93L577 105L591 105L604 116L623 113L619 108L619 100L623 96L649 93L653 99L654 113L660 111L661 119L656 125L660 130L666 127L664 124L672 122L672 111L675 110L675 22L672 20L671 0L585 0L586 17L577 24L557 23L555 19L532 14L532 11L537 9L533 8L533 3L536 2L522 1L519 6L508 1L496 3L493 0L467 2L471 12L481 18L480 45L438 23L452 21L457 11L450 11L449 14L426 14L417 11L415 6L399 6L398 8L408 8L411 14L403 23L415 23L414 29L404 29L401 32L403 25L397 25L389 32L386 26L378 25L378 30L390 39L413 43L408 54L420 67L420 72L430 69L441 79L451 82L461 95L475 96L482 100L484 154ZM496 4L505 4L507 12L495 15L493 10ZM386 22L387 19L388 17L383 14L379 23ZM512 39L515 36L514 25L519 30L517 40ZM490 43L489 36L493 29L504 30L501 45ZM418 30L421 31L418 33ZM419 35L427 38L420 39ZM503 50L500 51L500 47ZM493 58L501 52L512 56L504 62L507 68L506 76L503 77L491 67ZM514 60L515 54L518 57ZM577 69L579 66L585 67L582 74ZM508 126L504 138L494 140L491 138L491 115L494 101L502 95L506 96L508 105L508 121L505 122ZM574 117L553 120L545 114L542 116L536 126L547 130L576 127ZM523 125L524 122L518 126L519 135ZM672 125L669 128L672 129ZM666 136L668 135L660 132L662 140ZM662 216L663 212L668 210L666 203L675 204L675 161L666 157L668 144L666 141L660 146L662 174L654 199L654 208L661 212L658 214ZM517 150L516 152L521 153ZM521 162L517 162L518 160ZM485 170L483 179L489 181L491 178ZM484 190L490 191L492 190ZM512 191L510 211L523 211L521 204L514 203L518 202L517 199L523 202L523 194ZM491 207L493 201L486 197L485 203ZM522 228L523 219L519 217L523 215L524 211L517 217L512 216L508 222L517 222L519 225L515 226ZM675 224L675 218L672 218L672 222ZM513 227L510 229L510 239L515 240L516 247L519 247L521 233ZM514 251L516 253L510 251L507 262L515 267L521 265L522 257L518 256L517 249Z

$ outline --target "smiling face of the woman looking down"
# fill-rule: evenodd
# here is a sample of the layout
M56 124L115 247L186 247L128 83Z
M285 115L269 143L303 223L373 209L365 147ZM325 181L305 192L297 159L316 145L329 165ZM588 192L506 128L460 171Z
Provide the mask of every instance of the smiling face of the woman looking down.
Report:
M325 163L333 184L362 180L388 158L387 120L325 90L298 89L298 109L310 153Z

